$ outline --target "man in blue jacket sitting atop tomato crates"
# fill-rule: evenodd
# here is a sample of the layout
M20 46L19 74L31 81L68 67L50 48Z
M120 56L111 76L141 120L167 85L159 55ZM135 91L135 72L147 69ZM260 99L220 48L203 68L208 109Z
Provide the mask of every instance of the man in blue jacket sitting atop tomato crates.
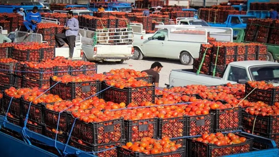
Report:
M35 31L37 24L42 21L41 14L38 12L38 7L34 6L33 10L26 15L25 19L26 21L24 21L23 24L27 28L28 34L31 34Z

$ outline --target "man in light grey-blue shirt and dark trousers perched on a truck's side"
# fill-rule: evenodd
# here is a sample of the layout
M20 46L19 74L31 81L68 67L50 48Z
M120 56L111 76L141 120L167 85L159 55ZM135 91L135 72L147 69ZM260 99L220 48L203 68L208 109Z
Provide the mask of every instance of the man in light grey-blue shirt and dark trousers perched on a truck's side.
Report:
M69 52L68 60L72 60L79 27L78 27L78 20L74 18L72 11L67 12L67 17L68 17L68 21L64 26L64 29L66 30L65 33L56 34L55 39L60 46L69 47L70 52Z

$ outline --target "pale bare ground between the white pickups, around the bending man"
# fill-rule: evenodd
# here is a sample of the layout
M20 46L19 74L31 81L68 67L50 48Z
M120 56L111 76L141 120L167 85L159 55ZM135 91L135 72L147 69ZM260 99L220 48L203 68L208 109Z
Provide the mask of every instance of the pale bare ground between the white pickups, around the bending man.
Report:
M182 65L179 60L170 60L165 58L144 58L143 60L127 60L123 64L115 62L98 63L98 73L108 72L110 69L129 68L142 71L149 69L151 64L155 61L160 62L164 67L160 72L160 87L165 87L165 83L169 84L169 74L172 69L190 69L192 66Z

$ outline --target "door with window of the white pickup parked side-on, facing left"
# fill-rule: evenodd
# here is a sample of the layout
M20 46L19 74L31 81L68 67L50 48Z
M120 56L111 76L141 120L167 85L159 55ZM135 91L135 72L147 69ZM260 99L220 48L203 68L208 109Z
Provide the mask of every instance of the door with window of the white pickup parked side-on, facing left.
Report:
M164 57L164 44L166 36L167 31L158 31L152 37L149 37L148 40L144 41L146 56Z

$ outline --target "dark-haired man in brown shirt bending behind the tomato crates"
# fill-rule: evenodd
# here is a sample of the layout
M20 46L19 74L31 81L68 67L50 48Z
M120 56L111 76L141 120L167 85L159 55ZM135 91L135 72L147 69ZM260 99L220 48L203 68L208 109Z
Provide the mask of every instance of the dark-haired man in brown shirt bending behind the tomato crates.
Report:
M159 87L159 72L162 69L162 64L160 62L154 62L150 69L143 70L142 72L146 72L147 74L153 76L152 81L156 85L156 87Z

